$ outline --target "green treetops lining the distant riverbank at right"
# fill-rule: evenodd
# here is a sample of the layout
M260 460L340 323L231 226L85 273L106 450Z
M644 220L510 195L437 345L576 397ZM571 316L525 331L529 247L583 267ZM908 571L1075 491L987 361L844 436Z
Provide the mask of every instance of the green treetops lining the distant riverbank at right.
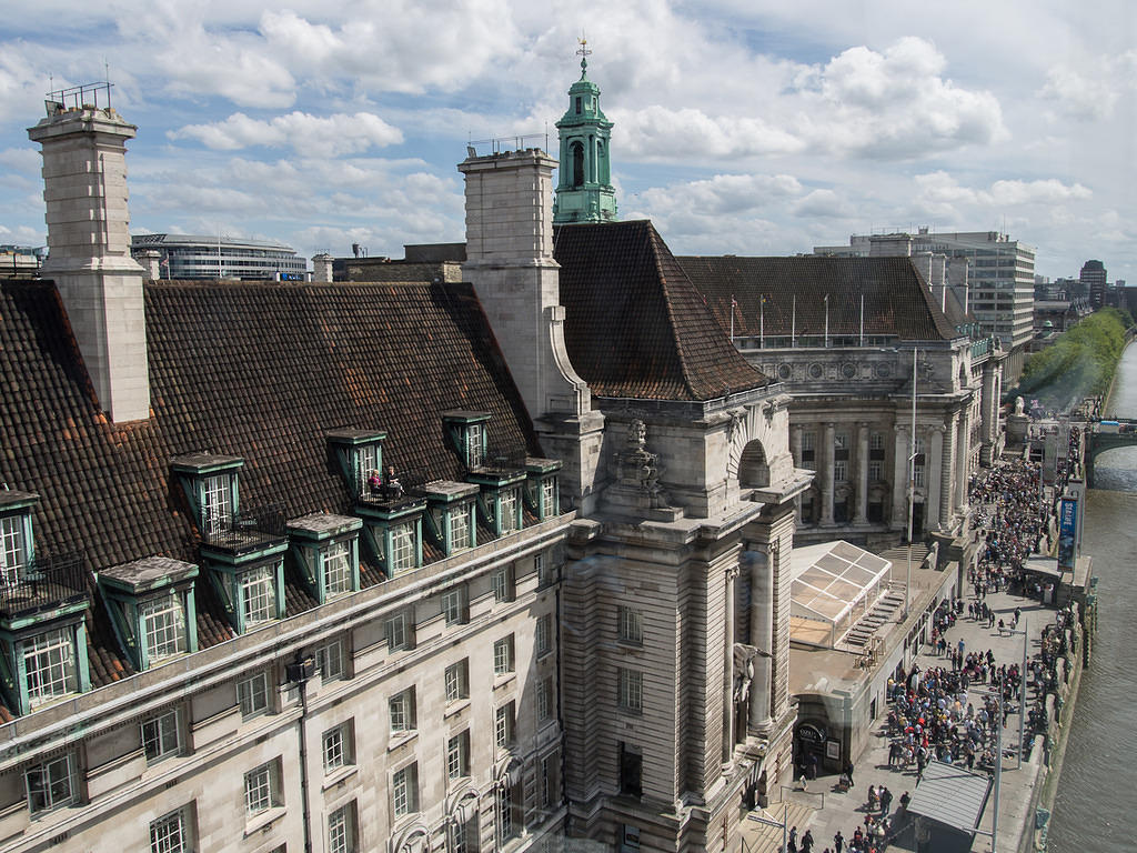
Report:
M1027 358L1019 387L1012 392L1036 397L1046 408L1065 409L1082 397L1104 395L1132 317L1117 308L1096 312L1071 326L1040 353Z

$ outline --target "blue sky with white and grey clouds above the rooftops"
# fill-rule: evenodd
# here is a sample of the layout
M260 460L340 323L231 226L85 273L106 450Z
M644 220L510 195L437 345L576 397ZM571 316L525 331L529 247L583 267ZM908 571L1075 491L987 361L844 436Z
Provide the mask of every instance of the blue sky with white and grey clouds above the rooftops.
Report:
M7 0L0 243L45 240L44 93L106 77L139 126L135 231L401 257L463 239L470 140L549 133L579 75L622 218L679 254L1001 230L1037 271L1137 283L1131 0Z

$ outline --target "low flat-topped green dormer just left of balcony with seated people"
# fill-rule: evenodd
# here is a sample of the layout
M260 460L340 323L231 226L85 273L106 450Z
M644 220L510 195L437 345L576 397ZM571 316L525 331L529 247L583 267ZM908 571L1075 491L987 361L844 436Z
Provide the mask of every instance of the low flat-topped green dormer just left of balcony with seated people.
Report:
M359 589L359 529L350 515L313 513L288 524L292 555L321 604Z

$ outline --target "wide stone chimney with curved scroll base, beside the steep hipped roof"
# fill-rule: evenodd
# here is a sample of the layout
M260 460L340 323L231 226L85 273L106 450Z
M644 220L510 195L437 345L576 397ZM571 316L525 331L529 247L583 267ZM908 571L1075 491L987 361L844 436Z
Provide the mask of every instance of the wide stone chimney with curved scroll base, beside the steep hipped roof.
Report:
M604 415L564 341L559 265L553 258L553 168L539 149L479 157L466 176L466 280L489 317L498 346L546 453L564 463L563 490L584 511L595 506Z

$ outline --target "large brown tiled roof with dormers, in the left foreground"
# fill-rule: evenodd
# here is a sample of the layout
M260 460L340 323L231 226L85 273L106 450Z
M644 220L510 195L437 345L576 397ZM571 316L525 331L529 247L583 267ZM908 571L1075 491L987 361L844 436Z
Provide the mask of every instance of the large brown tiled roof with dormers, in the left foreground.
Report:
M0 283L0 481L41 496L41 554L82 548L92 570L157 554L200 562L169 467L193 452L243 457L242 508L283 504L287 517L345 510L331 429L385 430L384 462L428 480L464 479L443 411L490 412L491 446L540 455L470 285L150 282L146 316L152 416L116 425L55 285ZM290 614L314 605L292 581ZM210 586L197 589L206 648L232 630ZM98 602L91 619L92 681L131 674Z

